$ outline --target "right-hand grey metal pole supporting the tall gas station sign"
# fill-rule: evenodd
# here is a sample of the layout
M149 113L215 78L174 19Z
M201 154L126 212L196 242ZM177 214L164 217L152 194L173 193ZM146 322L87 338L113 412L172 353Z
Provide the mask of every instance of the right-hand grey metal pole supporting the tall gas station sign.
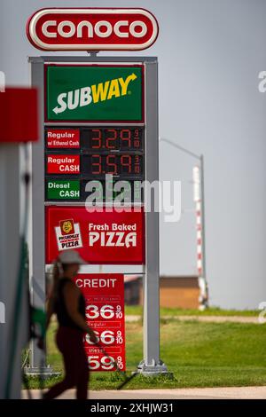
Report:
M145 62L145 180L147 185L159 180L158 132L158 64L157 59ZM147 191L147 190L146 190ZM145 191L145 197L148 193ZM159 198L151 195L151 211L145 214L145 280L144 280L144 359L141 374L168 373L160 360L160 250Z

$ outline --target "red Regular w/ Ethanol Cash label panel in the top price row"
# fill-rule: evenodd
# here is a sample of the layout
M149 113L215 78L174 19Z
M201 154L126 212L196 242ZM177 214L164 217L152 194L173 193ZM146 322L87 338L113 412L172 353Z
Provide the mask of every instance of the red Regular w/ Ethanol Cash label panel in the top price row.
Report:
M47 129L46 146L48 148L80 148L80 130L78 129Z

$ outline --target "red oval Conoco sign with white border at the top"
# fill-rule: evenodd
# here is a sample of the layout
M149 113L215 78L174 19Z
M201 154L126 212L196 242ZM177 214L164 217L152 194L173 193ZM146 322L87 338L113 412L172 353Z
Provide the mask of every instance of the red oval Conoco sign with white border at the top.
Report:
M42 9L27 22L29 41L43 51L140 51L158 31L145 9Z

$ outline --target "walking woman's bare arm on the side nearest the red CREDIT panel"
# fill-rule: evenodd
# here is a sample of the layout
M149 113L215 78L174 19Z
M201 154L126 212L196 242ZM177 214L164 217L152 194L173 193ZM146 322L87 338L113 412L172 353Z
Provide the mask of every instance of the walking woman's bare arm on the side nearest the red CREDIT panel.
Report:
M85 333L90 334L91 342L97 342L97 338L93 330L87 325L82 314L78 310L80 292L74 283L67 282L63 290L64 300L66 304L66 311L74 323L80 327Z

